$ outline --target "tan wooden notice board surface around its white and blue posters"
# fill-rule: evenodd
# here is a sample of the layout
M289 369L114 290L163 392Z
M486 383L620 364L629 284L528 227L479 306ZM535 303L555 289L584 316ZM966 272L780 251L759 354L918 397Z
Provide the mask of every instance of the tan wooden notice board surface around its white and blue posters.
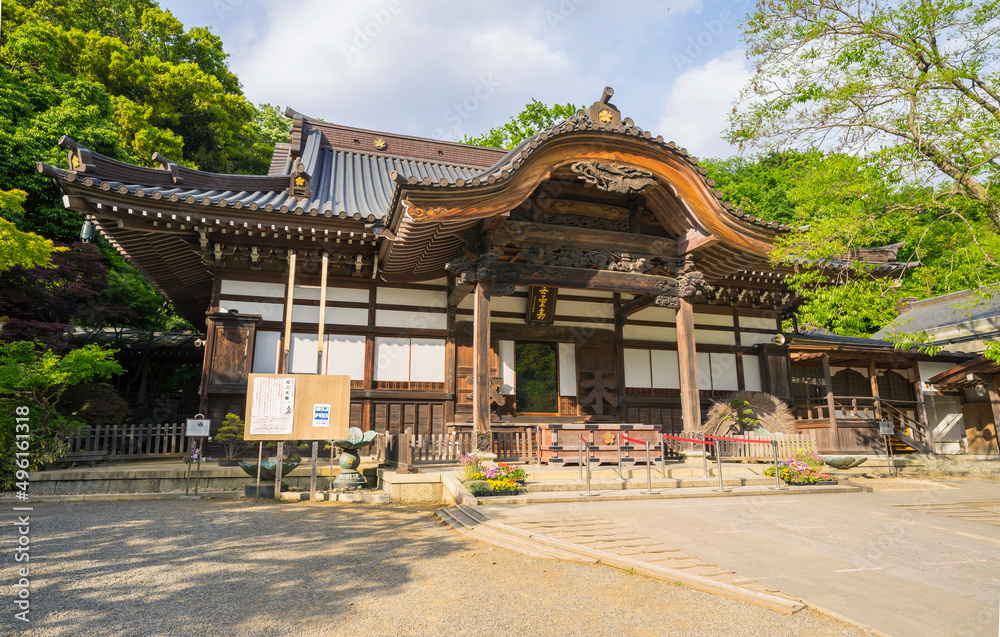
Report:
M292 432L251 434L253 426L254 380L257 378L295 379ZM330 405L330 426L313 427L313 406ZM247 379L246 433L244 440L345 440L351 426L351 377L320 374L250 374Z

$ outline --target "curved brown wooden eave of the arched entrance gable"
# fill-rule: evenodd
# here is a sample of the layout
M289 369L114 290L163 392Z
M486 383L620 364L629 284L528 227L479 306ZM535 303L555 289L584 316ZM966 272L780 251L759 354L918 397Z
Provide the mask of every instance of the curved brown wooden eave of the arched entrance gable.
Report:
M638 129L556 127L532 138L470 181L437 184L397 177L387 226L397 239L380 251L387 277L439 274L458 256L458 235L482 219L524 203L547 180L578 161L601 161L650 171L656 183L643 191L646 207L664 226L682 256L718 276L766 262L783 227L733 213L683 149Z

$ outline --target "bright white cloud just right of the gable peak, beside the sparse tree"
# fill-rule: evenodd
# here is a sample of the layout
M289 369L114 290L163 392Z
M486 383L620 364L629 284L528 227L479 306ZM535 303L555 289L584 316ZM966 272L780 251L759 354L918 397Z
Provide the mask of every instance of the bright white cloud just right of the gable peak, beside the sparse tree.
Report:
M674 80L654 129L698 157L729 157L734 147L722 139L733 100L750 79L742 50L726 51Z

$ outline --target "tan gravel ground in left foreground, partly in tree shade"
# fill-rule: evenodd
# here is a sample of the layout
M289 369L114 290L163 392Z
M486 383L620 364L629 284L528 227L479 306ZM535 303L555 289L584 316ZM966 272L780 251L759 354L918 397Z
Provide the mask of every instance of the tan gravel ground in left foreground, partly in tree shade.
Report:
M3 635L869 635L466 539L433 509L35 504L31 625ZM13 513L8 512L8 516ZM15 580L13 524L2 585ZM777 558L777 556L776 556Z

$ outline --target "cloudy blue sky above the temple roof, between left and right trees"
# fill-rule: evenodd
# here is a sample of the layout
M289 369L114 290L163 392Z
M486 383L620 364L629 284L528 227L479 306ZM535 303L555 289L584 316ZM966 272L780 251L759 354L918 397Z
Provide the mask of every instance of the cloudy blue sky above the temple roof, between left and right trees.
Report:
M636 124L700 157L749 77L751 0L162 0L222 37L255 102L440 139L481 133L531 99L589 105L605 85Z

